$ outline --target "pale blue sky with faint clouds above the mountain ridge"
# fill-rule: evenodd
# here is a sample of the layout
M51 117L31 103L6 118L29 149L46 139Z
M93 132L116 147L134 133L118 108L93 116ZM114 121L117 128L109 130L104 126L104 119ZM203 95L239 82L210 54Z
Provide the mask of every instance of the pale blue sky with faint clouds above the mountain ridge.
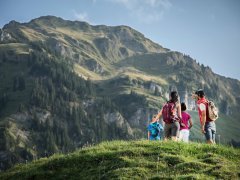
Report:
M0 0L0 28L46 15L130 26L217 74L240 80L240 0Z

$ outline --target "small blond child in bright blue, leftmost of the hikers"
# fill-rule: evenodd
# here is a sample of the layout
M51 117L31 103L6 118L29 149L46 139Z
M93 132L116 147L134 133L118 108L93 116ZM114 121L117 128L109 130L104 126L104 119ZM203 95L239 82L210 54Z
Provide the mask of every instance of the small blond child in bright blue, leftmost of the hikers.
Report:
M153 116L147 129L148 140L161 140L161 131L163 130L163 127L159 123L159 119L156 119L156 115Z

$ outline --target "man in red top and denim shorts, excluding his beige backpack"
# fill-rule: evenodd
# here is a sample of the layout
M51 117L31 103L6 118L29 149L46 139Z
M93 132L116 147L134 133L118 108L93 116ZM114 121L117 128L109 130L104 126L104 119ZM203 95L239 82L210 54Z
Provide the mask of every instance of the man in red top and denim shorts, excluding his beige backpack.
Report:
M215 144L216 124L209 117L208 100L205 98L204 91L199 89L193 94L193 98L197 100L201 131L205 135L208 144Z

